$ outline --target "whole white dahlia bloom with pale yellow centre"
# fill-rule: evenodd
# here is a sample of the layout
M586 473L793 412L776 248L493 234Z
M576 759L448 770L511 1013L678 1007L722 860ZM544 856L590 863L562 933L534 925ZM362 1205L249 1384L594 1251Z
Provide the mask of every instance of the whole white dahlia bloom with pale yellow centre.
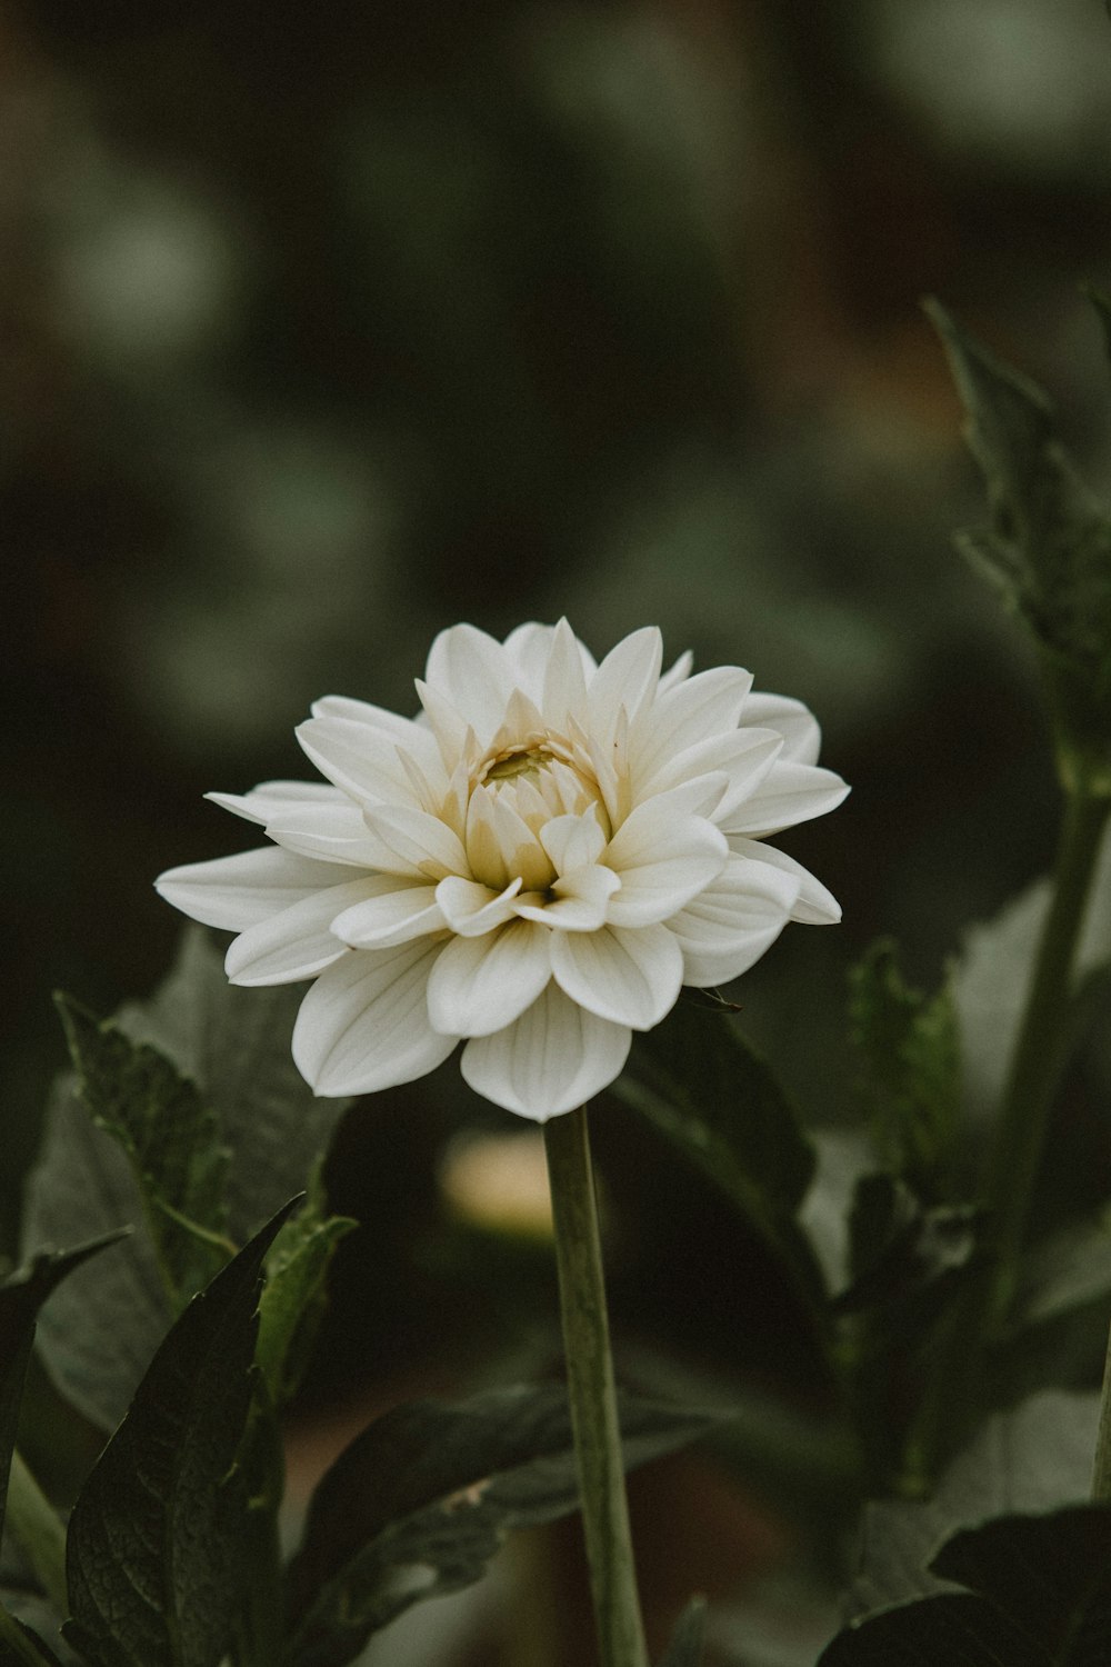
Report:
M735 979L788 920L839 919L763 844L848 792L806 707L738 667L660 667L655 628L598 665L566 620L505 643L455 625L421 715L318 702L296 735L326 783L212 793L272 844L157 887L238 932L233 984L315 980L293 1057L316 1094L411 1082L465 1040L478 1094L568 1112L683 984Z

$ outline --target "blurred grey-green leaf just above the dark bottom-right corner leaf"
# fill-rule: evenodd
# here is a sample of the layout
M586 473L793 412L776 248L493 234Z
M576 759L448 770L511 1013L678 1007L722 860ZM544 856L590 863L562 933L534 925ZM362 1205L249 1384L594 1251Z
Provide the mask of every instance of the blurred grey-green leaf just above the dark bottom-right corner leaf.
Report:
M921 1504L881 1500L864 1507L861 1572L853 1585L858 1614L938 1590L926 1572L936 1547L956 1529L1003 1512L1054 1510L1091 1487L1099 1397L1049 1390L986 1420Z

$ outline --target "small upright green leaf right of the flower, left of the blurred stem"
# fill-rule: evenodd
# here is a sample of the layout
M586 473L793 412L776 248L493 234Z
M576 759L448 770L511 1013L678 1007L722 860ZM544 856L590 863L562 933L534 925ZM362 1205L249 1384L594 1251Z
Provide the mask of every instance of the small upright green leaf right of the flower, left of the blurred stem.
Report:
M849 1035L878 1155L923 1197L943 1195L961 1104L949 985L913 990L884 939L849 972Z

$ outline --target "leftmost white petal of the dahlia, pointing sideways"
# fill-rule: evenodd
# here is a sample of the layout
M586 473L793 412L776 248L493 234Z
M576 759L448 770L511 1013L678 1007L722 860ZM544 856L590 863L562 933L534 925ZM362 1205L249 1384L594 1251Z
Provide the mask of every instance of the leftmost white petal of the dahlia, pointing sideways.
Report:
M296 857L278 845L263 845L262 850L242 850L237 857L167 869L155 880L155 890L192 920L245 932L321 887L340 884L346 872L330 862Z

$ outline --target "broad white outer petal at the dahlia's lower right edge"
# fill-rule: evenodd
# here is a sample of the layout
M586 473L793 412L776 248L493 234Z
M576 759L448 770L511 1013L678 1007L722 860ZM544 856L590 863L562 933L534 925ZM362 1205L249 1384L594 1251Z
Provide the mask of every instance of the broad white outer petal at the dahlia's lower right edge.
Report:
M730 855L716 880L668 920L685 957L683 982L728 984L760 960L791 917L795 875Z

